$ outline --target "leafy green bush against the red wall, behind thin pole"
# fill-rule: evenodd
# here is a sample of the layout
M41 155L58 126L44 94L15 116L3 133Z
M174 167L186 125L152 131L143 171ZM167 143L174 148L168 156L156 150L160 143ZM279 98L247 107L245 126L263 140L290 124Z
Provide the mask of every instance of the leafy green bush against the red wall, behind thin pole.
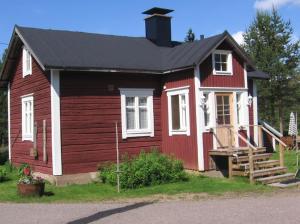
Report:
M116 164L107 164L100 168L103 183L117 184ZM121 188L139 188L187 180L181 161L160 154L158 151L142 151L133 159L126 158L120 164Z

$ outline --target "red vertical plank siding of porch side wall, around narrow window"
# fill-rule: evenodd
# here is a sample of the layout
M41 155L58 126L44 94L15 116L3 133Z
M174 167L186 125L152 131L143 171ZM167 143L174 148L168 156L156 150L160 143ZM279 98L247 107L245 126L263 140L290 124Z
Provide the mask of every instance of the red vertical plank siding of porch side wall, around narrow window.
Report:
M168 99L166 91L161 96L161 119L162 119L162 151L173 155L184 162L187 169L198 169L197 155L197 131L196 131L196 110L195 110L195 87L194 70L169 74L163 80L166 89L189 86L189 106L190 106L190 136L173 135L169 136L168 126Z

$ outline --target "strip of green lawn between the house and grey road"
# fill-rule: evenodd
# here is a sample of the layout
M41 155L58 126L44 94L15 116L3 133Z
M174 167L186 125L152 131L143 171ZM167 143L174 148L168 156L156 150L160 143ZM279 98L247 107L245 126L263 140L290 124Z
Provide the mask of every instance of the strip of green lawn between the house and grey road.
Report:
M56 187L47 184L45 190L48 196L41 198L21 198L16 193L16 171L9 173L8 178L9 180L0 183L0 202L92 202L141 198L158 194L208 193L219 195L227 192L270 191L270 188L266 186L250 185L245 178L228 180L190 175L187 182L163 184L135 190L122 190L120 194L116 192L115 187L102 183L69 185L65 187Z

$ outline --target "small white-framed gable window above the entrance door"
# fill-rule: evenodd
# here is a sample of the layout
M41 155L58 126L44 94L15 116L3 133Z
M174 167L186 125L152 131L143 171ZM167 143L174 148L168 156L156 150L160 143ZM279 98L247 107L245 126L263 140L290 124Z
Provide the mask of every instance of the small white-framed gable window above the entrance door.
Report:
M231 51L216 50L212 54L212 61L214 75L232 75Z

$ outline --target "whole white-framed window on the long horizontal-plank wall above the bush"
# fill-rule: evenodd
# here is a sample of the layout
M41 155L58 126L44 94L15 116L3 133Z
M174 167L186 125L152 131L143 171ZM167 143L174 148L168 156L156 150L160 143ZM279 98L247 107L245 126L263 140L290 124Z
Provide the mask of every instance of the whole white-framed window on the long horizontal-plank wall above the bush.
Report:
M120 89L120 92L122 137L153 137L153 89Z

